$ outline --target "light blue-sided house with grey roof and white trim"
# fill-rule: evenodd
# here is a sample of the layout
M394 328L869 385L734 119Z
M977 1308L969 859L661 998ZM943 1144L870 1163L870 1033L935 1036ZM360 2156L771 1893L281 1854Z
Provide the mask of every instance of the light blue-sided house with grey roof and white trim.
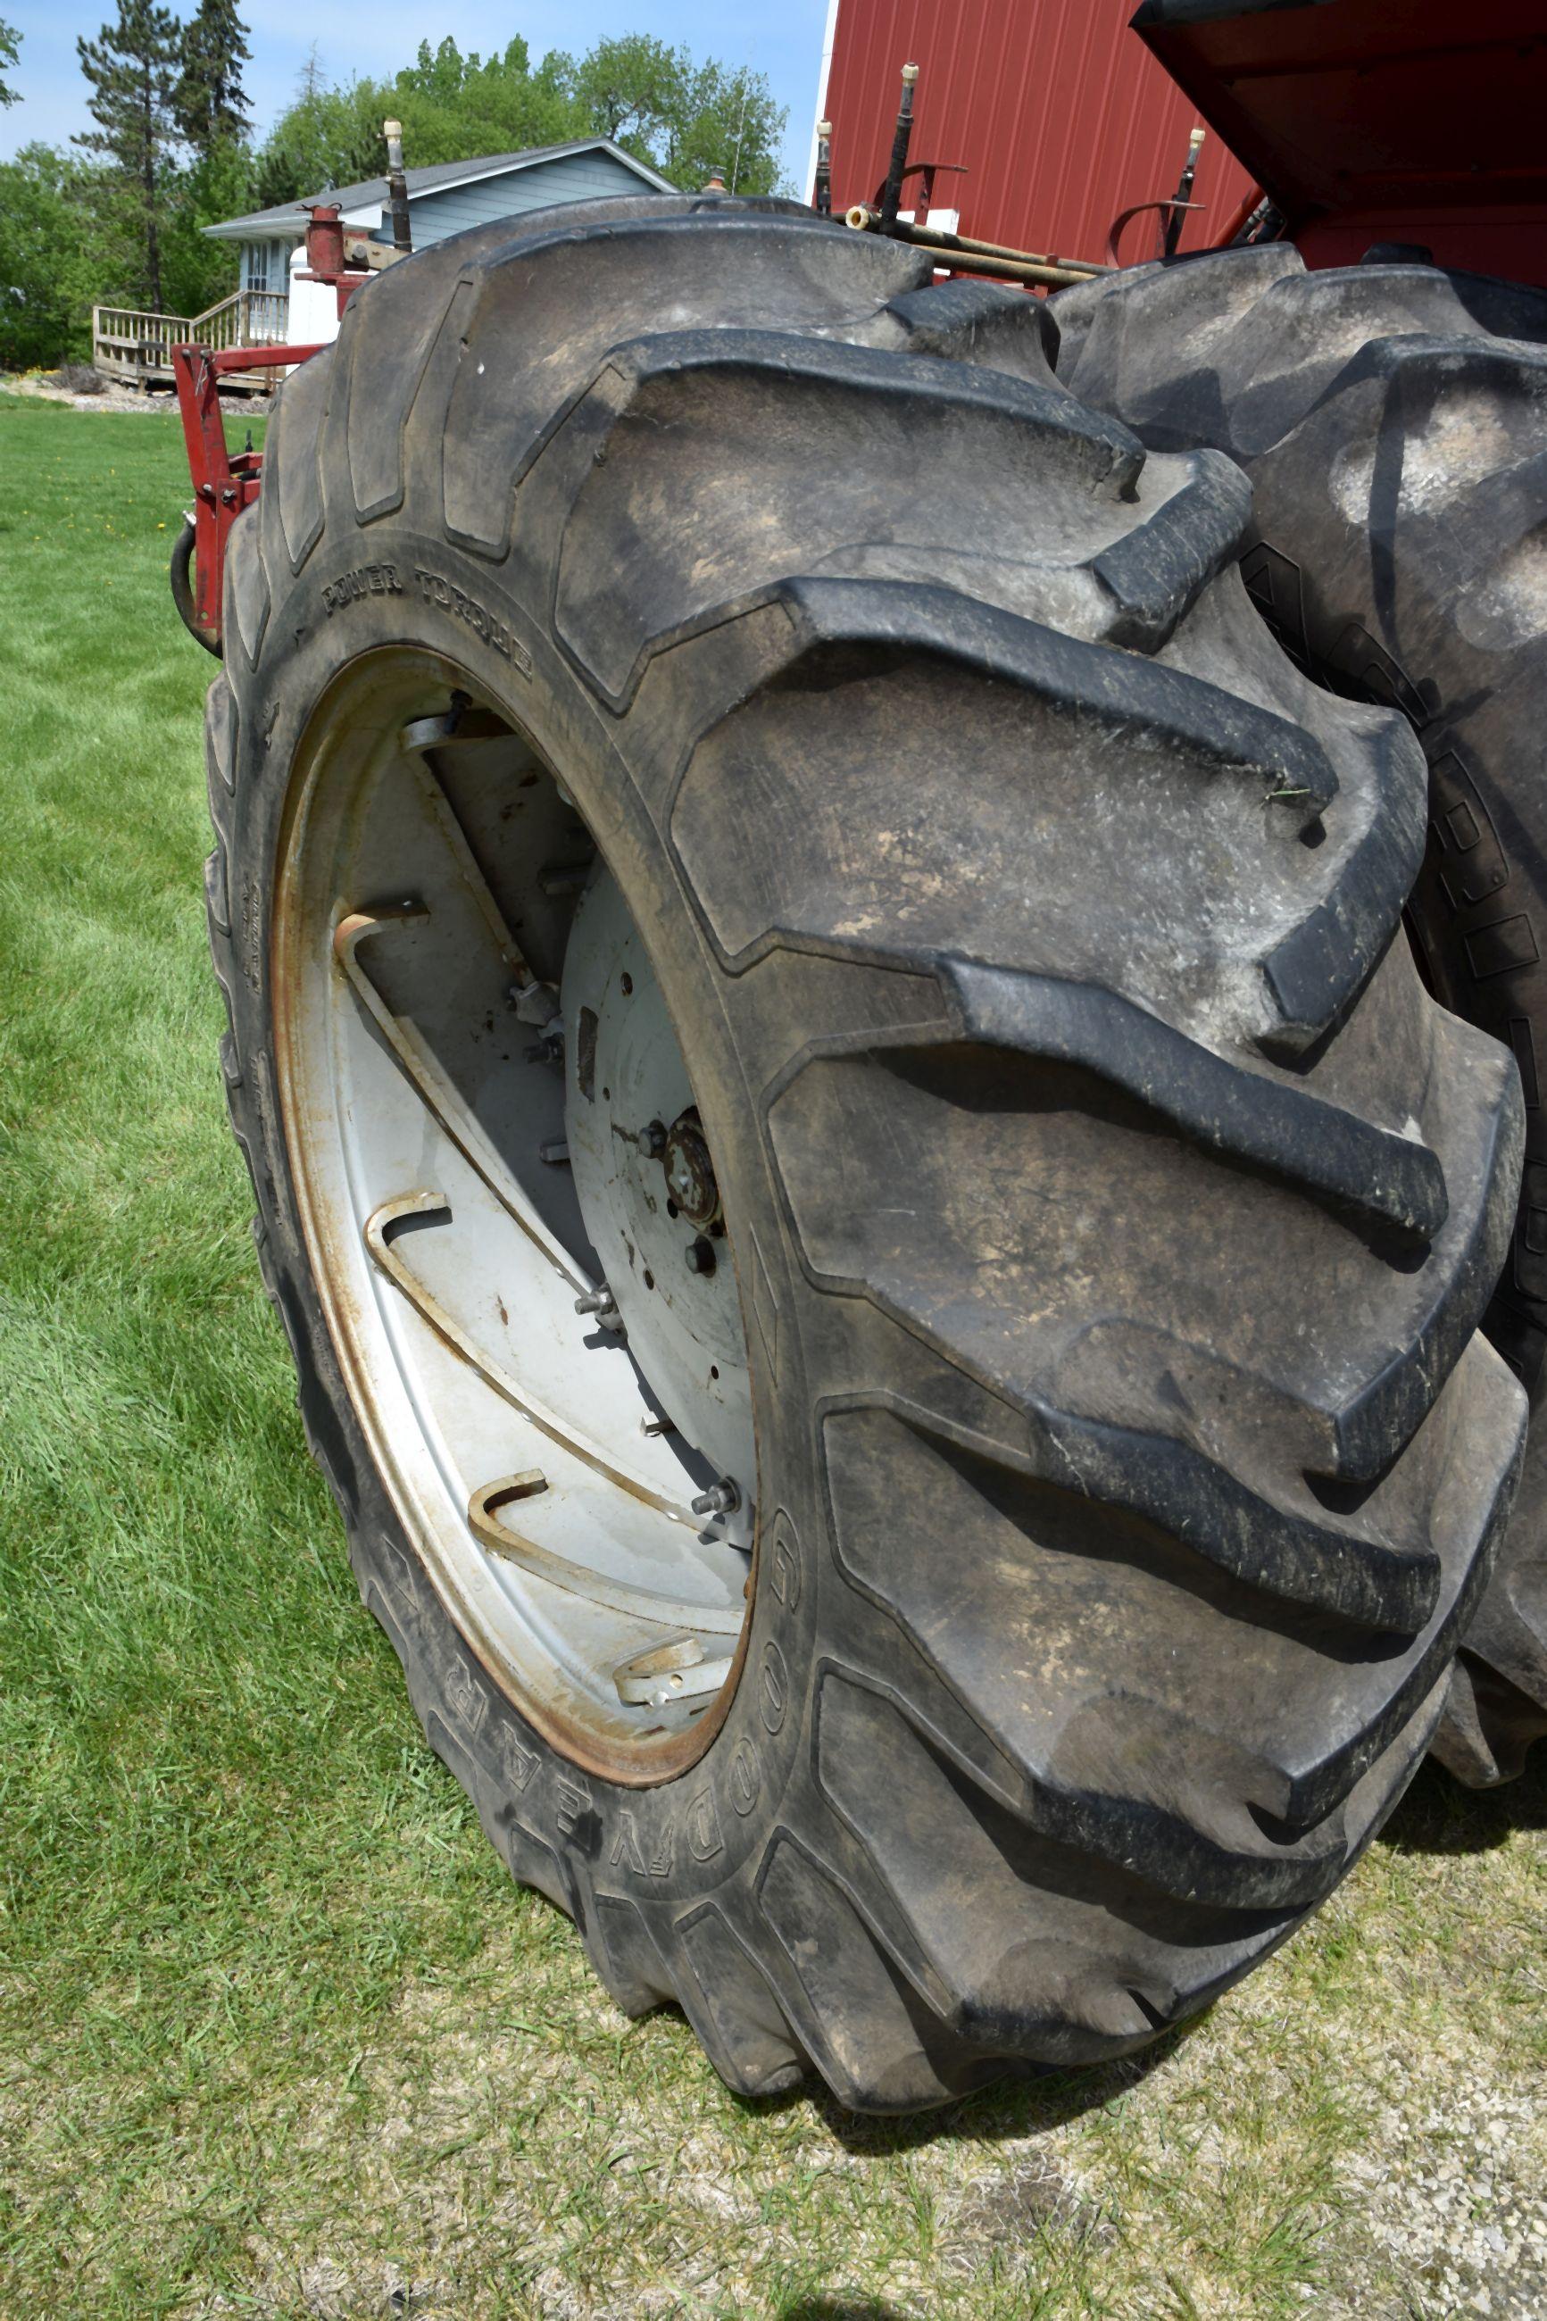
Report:
M408 169L406 179L415 251L445 241L448 234L462 234L469 225L520 218L524 209L550 209L554 202L677 190L659 169L624 153L610 137L575 137L526 153L434 162L429 169ZM385 176L366 179L364 186L329 186L306 202L281 202L276 209L255 209L246 218L206 225L204 232L216 241L241 244L241 290L288 297L290 265L306 232L308 202L336 202L346 225L392 239ZM285 318L271 316L267 337L285 339Z

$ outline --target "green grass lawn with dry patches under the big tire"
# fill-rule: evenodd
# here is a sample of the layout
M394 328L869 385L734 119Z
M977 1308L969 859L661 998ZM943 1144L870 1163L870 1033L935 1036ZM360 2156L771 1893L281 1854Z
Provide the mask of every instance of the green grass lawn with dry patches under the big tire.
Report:
M1424 1773L1157 2061L923 2121L738 2103L508 1882L257 1286L186 501L169 415L0 399L0 2321L1547 2314L1547 1764Z

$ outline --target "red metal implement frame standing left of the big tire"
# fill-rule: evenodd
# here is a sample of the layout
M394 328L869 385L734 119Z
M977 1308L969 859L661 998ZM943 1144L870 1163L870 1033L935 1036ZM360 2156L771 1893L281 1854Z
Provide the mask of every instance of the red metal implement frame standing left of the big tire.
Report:
M339 290L339 313L343 316L353 292L371 276L346 272L343 227L336 207L318 204L311 211L306 258L311 267L297 279L334 283ZM193 522L183 527L172 557L172 594L190 634L213 655L223 650L220 596L225 583L225 543L241 511L250 508L257 499L262 480L260 450L239 450L232 455L225 448L220 378L230 371L290 369L320 353L322 344L230 346L220 348L220 353L209 346L172 348L172 376L183 415L188 473L193 476Z

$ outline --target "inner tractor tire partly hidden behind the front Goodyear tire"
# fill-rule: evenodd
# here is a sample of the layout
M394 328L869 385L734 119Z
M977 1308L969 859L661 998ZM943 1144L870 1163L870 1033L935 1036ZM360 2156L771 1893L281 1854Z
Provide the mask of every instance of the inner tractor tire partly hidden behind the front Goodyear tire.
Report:
M1429 759L1408 924L1431 991L1515 1049L1526 1163L1484 1328L1547 1376L1547 292L1431 265L1220 251L1053 299L1058 371L1157 450L1250 476L1245 585L1320 682ZM1547 1425L1436 1752L1487 1787L1547 1734Z

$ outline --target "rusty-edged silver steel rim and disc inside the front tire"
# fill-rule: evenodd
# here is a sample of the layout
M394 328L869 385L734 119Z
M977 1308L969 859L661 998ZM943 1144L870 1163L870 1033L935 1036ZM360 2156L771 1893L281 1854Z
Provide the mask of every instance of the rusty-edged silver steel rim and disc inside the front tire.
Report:
M698 1107L617 880L524 740L438 701L404 692L387 731L341 706L290 817L276 1044L304 1230L469 1643L580 1762L663 1778L747 1613L731 1235L642 1135Z

